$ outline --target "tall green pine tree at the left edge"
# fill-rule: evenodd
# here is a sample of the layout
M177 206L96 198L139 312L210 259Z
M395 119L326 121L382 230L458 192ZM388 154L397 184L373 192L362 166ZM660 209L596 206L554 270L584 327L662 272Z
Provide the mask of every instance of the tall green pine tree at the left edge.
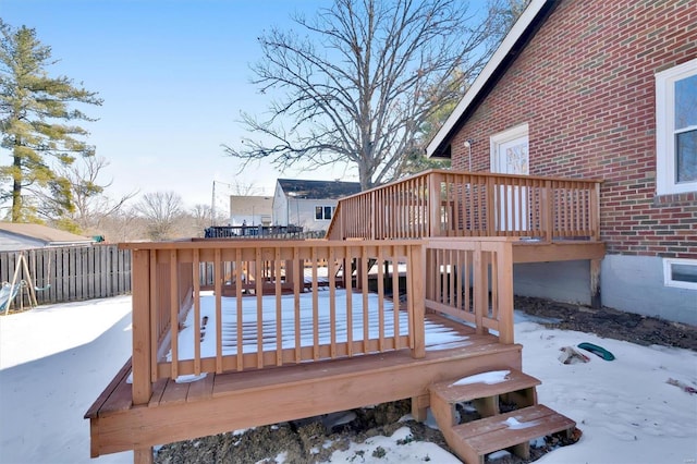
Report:
M11 163L0 166L0 200L12 199L13 222L38 220L38 212L60 217L74 209L70 180L60 168L77 157L91 157L95 148L82 138L87 131L75 121L95 121L74 103L101 105L97 93L76 86L66 76L51 77L51 48L36 30L13 28L0 20L0 146ZM41 193L50 202L32 202L28 193ZM42 210L42 211L41 211Z

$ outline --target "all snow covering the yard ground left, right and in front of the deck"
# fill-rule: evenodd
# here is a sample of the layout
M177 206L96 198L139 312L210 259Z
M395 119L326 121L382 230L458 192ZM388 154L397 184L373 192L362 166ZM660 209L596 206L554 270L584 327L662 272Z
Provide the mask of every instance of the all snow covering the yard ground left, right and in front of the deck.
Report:
M93 401L131 354L130 297L41 306L0 317L0 462L131 463L131 452L89 459ZM578 423L574 445L540 463L697 462L697 353L639 346L592 334L546 329L521 318L515 326L523 366L538 377L539 401ZM559 350L590 342L616 359L595 355L564 365ZM398 444L398 441L403 444ZM457 463L433 443L408 440L408 430L374 437L337 452L332 462Z

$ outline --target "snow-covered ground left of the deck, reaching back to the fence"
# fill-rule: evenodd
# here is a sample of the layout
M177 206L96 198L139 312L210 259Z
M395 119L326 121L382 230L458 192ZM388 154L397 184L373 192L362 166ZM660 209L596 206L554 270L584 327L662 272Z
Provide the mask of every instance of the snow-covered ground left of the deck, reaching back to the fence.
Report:
M130 356L130 296L0 317L0 463L90 462L83 416Z

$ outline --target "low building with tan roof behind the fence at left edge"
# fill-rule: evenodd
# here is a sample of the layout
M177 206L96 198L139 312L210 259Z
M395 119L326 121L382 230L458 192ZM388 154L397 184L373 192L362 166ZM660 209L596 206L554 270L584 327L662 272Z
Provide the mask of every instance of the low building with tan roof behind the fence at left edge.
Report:
M93 239L39 224L0 222L0 252L89 245Z

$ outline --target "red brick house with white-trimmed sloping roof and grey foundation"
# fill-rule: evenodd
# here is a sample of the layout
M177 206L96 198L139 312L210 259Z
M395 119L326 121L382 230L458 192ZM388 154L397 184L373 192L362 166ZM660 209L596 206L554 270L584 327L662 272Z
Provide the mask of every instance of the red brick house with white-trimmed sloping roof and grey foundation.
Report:
M533 0L427 149L455 170L602 179L602 304L692 325L695 7ZM515 291L588 303L587 267L516 265Z

